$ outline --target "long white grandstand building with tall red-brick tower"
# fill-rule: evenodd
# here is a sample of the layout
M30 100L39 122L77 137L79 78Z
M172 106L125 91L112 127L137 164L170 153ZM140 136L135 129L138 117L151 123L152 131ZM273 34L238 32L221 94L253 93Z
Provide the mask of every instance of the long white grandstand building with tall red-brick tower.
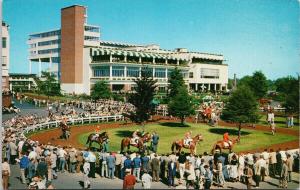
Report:
M98 80L107 81L113 91L129 91L143 67L158 81L160 90L166 89L175 67L194 91L227 88L228 65L223 55L103 41L99 26L87 23L87 8L80 5L62 8L61 28L30 34L28 45L30 73L37 64L40 76L42 65L47 65L64 93L90 94Z

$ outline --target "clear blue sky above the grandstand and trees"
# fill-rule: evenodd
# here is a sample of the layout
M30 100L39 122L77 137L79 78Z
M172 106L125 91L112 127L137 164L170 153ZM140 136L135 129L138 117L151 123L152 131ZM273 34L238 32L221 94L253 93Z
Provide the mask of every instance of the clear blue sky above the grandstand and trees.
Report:
M60 28L60 9L88 7L101 40L224 55L229 78L300 73L298 0L4 0L11 73L28 73L30 33ZM34 71L37 71L37 66Z

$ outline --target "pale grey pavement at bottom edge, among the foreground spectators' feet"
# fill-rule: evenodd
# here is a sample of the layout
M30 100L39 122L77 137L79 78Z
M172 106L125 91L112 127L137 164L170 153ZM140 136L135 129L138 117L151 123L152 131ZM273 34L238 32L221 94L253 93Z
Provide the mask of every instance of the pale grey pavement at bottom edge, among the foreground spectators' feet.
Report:
M20 170L18 165L11 166L12 175L10 177L10 189L26 189L27 186L20 182ZM299 189L299 174L293 173L293 182L288 184L289 189ZM58 173L58 179L53 180L53 186L56 189L82 189L83 174L70 174L68 172ZM110 180L107 178L100 178L98 175L95 179L90 178L92 189L122 189L123 181L120 179ZM278 180L273 178L266 178L266 182L260 184L261 189L278 189ZM142 189L142 184L138 183L136 189ZM213 189L222 189L212 186ZM224 189L245 189L246 186L240 182L231 183L226 182ZM254 188L254 186L253 186ZM169 189L168 186L162 182L153 182L151 189Z

